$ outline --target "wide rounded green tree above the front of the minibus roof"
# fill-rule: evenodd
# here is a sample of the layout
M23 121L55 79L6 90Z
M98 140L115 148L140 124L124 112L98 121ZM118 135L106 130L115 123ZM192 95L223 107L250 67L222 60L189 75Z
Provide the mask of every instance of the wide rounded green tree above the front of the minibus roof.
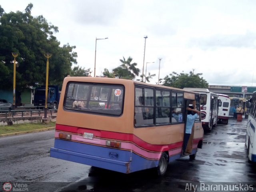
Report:
M191 88L208 88L208 83L204 80L202 73L193 74L192 71L187 73L172 72L170 76L164 78L163 85L183 89L184 87Z

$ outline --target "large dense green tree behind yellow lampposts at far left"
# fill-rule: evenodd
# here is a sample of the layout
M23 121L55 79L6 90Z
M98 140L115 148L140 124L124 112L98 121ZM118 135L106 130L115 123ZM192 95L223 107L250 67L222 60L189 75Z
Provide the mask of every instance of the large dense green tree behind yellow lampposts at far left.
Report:
M49 84L61 84L70 74L72 64L76 64L75 46L60 42L53 36L58 27L48 24L42 16L31 16L33 4L28 4L25 12L5 13L0 6L0 89L12 89L13 56L17 52L16 90L28 86L45 84L46 57L49 58Z

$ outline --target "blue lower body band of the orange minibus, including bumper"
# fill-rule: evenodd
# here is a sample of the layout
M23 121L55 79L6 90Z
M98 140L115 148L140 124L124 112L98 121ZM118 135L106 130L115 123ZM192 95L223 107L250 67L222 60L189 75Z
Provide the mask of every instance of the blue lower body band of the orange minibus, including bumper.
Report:
M74 149L79 149L74 152ZM85 154L88 153L88 154ZM110 158L109 153L118 154L118 158ZM124 161L124 156L130 156ZM148 160L130 151L92 146L84 143L55 139L54 148L50 148L50 156L90 166L96 166L122 173L131 173L158 165L158 160ZM172 160L180 158L180 154L170 157ZM132 160L132 161L130 161Z

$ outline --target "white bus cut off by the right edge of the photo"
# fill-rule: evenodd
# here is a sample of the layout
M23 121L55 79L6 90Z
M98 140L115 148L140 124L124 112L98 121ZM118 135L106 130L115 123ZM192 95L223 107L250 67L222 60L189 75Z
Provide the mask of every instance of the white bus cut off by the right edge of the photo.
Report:
M256 162L256 91L250 99L250 110L248 110L248 120L246 128L246 146L248 150L248 160Z

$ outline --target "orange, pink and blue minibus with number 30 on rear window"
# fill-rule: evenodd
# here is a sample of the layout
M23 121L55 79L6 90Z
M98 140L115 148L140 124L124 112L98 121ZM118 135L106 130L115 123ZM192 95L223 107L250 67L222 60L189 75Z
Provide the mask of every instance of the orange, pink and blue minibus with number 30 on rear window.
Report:
M50 156L126 174L155 168L164 175L168 162L184 156L186 107L196 101L200 110L197 92L132 80L66 77L62 93ZM198 116L190 159L203 134Z

